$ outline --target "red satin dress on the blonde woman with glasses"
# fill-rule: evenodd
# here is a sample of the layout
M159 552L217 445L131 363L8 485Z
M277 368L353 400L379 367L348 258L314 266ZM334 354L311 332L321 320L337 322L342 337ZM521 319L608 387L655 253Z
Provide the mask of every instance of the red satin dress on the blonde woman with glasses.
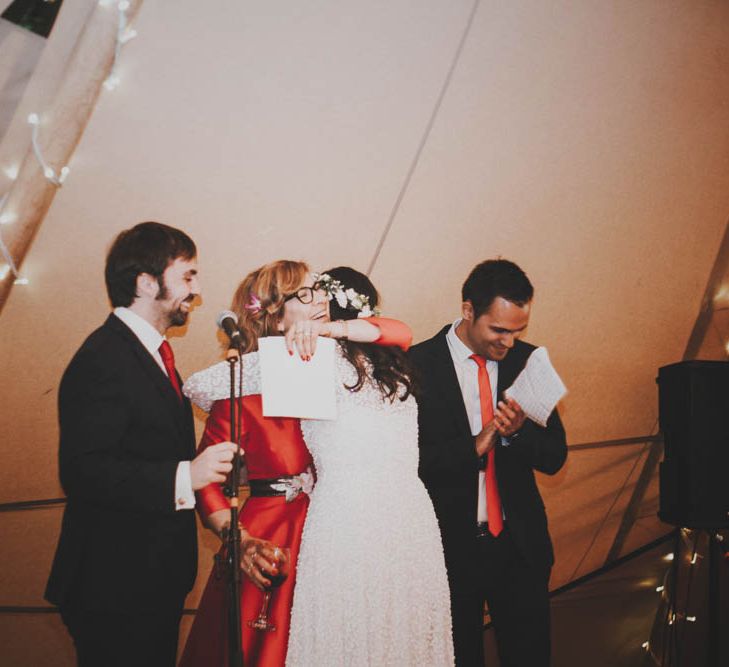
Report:
M387 318L369 318L368 321L380 329L378 345L405 350L410 346L412 332L406 324ZM260 394L244 396L241 412L241 446L245 450L249 479L298 475L312 465L298 419L264 417ZM217 400L210 409L198 453L208 445L229 439L230 401ZM197 508L203 517L230 507L219 484L210 484L196 497ZM291 549L291 573L274 591L269 606L269 619L276 626L275 631L261 632L248 627L248 621L258 615L263 594L248 577L242 577L241 634L245 667L283 667L286 662L296 561L308 507L309 496L300 493L291 502L286 502L283 496L250 497L240 511L239 522L252 537ZM213 568L179 667L227 667L226 582L221 574Z

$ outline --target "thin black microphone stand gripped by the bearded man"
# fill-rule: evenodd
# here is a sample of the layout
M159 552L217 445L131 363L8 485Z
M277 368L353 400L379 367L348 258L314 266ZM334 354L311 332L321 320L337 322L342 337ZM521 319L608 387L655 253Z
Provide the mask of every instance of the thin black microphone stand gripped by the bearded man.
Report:
M237 347L237 346L236 346ZM223 488L223 493L230 499L230 525L223 530L223 544L225 545L225 564L227 570L228 597L228 665L229 667L243 667L243 641L241 637L241 610L240 610L240 524L238 523L238 508L240 499L240 471L241 471L241 397L236 396L235 368L239 364L240 393L243 392L243 360L238 349L231 347L226 360L230 366L230 440L238 446L233 458L233 470Z

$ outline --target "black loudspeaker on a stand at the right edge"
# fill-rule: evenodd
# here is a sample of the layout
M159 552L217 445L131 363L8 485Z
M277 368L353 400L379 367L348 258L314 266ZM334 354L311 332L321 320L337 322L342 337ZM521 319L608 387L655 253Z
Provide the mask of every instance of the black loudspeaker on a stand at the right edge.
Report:
M674 526L729 528L729 361L663 366L657 382L658 516Z

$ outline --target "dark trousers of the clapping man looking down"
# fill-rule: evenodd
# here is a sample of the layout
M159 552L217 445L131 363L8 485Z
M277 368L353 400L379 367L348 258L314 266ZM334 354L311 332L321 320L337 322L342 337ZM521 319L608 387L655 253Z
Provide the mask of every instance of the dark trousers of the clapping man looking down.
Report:
M477 538L479 563L451 579L453 639L458 667L482 667L484 601L491 613L501 667L550 663L549 570L521 556L507 528Z

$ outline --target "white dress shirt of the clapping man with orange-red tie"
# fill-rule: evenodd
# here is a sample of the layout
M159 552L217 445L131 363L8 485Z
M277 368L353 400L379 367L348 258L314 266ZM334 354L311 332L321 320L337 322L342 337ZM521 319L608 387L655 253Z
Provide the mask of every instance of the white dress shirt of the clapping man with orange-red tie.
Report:
M468 415L468 423L471 427L471 435L476 436L483 430L483 422L481 421L481 394L478 390L478 364L471 359L474 354L456 334L456 327L461 323L461 319L457 319L446 334L448 349L453 359L453 368L456 371L458 384L461 387L461 395L463 403L466 406L466 414ZM491 384L491 398L496 410L497 387L499 383L499 364L490 359L486 360L486 372L489 374L489 383ZM506 444L501 439L502 444ZM476 511L477 521L486 521L488 514L486 513L486 473L480 470L478 473L478 508Z

